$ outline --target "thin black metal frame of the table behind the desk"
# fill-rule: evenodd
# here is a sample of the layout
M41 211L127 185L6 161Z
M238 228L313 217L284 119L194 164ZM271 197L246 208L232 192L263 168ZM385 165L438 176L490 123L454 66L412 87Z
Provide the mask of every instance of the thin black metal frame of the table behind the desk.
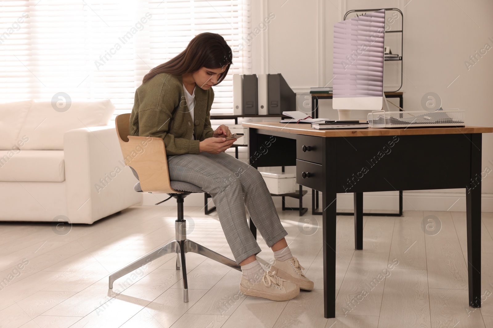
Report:
M384 92L386 98L399 98L399 107L404 108L404 98L402 92ZM312 95L312 117L314 119L318 118L318 99L332 99L333 94L313 94ZM400 111L400 109L399 109ZM362 197L362 196L361 196ZM356 202L356 200L354 201ZM361 209L363 206L363 199L361 201L358 199L358 203L361 203ZM356 208L356 203L354 203L354 208ZM318 209L318 190L312 189L312 215L322 215L322 212L317 211ZM337 215L354 215L351 212L337 212ZM366 213L366 216L402 216L402 190L399 190L399 211L397 213Z

